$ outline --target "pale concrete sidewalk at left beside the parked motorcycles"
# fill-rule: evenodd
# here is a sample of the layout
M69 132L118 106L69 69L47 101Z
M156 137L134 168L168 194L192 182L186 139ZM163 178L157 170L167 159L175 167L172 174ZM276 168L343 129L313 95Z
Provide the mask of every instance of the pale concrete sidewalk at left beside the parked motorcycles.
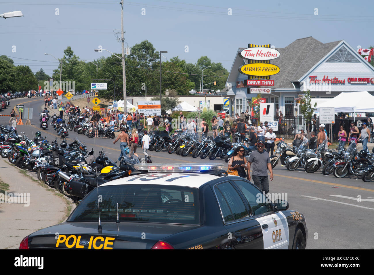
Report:
M24 204L0 204L0 249L18 249L25 236L66 220L67 214L75 208L75 204L61 193L40 181L36 182L34 172L23 171L28 176L9 164L7 159L0 158L0 179L9 184L8 196L13 193L24 194ZM21 201L20 198L18 200ZM27 204L29 206L25 206Z

